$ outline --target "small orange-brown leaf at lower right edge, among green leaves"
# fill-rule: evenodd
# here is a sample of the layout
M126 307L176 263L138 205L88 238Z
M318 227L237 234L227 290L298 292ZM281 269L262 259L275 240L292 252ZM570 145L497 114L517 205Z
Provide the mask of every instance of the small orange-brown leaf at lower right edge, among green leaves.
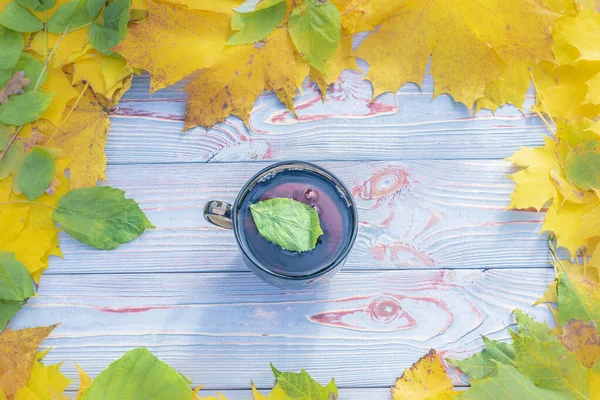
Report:
M586 368L592 368L600 358L600 336L594 321L571 319L562 327L558 339Z

